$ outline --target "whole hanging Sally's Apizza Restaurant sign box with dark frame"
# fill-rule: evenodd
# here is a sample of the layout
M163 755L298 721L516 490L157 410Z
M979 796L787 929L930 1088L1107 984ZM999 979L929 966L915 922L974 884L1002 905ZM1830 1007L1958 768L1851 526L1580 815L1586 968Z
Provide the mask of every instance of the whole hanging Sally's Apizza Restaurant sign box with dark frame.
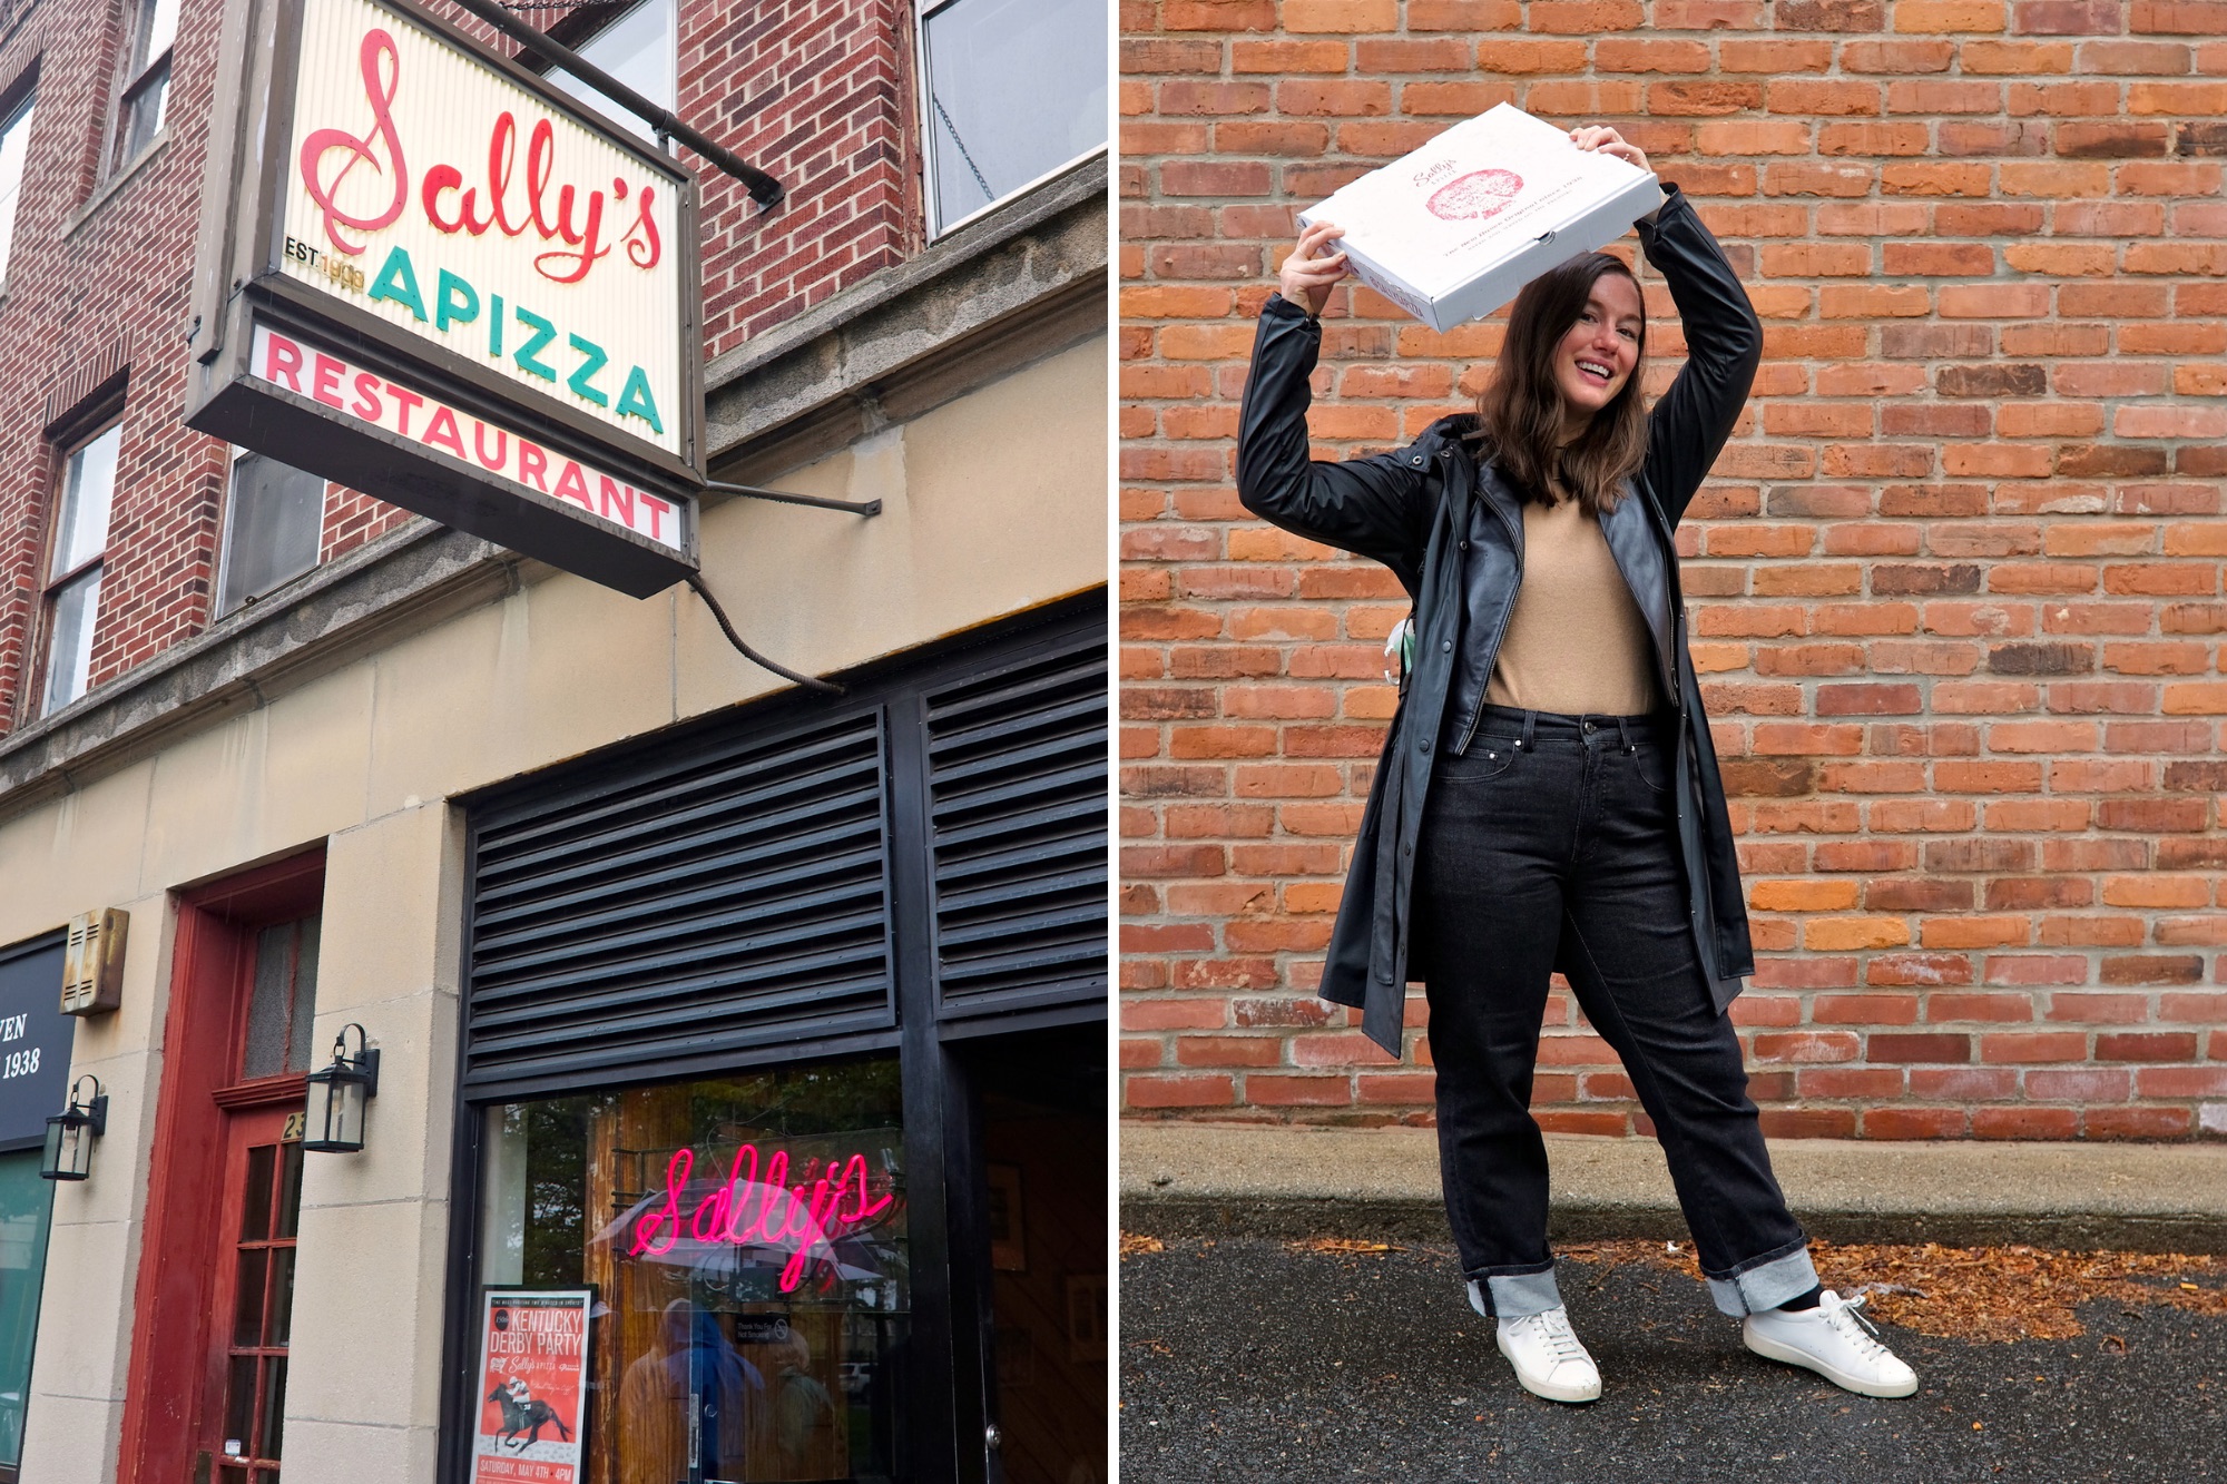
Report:
M693 180L410 0L232 0L187 423L608 586L695 570Z

